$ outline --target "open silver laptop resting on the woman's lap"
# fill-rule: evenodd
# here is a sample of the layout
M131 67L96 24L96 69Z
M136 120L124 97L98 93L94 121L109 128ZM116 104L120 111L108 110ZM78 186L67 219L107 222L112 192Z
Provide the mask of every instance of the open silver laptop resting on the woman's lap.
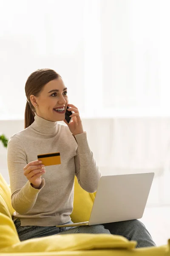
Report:
M142 218L154 172L100 177L89 221L56 227L78 227Z

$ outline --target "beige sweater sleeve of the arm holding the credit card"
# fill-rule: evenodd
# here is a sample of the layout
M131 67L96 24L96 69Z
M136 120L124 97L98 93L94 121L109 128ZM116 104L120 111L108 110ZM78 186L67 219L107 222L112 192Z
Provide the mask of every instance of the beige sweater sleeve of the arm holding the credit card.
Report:
M16 212L26 214L37 200L38 193L45 185L42 179L40 189L34 189L23 174L27 165L27 157L23 145L17 137L8 141L7 163L11 186L11 203Z

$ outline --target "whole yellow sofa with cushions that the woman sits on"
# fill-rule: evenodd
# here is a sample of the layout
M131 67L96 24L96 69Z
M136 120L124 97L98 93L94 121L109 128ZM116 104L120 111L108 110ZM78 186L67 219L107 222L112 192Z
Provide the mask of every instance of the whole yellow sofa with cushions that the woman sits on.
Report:
M74 222L88 221L95 194L75 178ZM0 174L0 256L170 256L170 239L160 247L136 248L136 241L108 234L65 234L20 241L12 221L11 191Z

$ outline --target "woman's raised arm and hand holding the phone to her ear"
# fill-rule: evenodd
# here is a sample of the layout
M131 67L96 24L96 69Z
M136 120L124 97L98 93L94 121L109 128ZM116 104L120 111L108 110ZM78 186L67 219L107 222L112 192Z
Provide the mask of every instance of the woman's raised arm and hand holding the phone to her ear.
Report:
M66 120L64 122L68 125L78 144L77 155L74 157L76 176L80 186L87 192L93 193L97 190L100 178L99 168L88 145L87 134L83 130L78 108L72 104L68 104L68 106L70 107L68 111L74 111L71 114L72 122L69 124Z

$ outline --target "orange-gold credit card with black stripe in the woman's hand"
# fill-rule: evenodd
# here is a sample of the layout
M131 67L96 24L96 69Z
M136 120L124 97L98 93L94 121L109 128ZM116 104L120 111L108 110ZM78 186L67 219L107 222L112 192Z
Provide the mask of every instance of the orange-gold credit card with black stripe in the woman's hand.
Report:
M38 160L41 160L42 164L44 164L45 166L61 164L61 158L60 158L59 152L40 154L37 157L38 157Z

